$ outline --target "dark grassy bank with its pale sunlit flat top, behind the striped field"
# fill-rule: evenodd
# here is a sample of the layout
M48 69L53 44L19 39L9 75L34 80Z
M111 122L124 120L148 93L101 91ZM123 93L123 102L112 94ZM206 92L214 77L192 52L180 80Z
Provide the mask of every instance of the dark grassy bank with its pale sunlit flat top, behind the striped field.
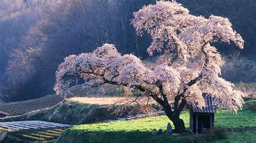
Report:
M24 115L0 118L0 121L44 120L64 124L95 123L115 119L112 113L118 106L113 105L121 97L72 97L51 108L45 108ZM11 105L11 104L10 104ZM109 109L111 106L111 110ZM126 114L119 115L123 117Z

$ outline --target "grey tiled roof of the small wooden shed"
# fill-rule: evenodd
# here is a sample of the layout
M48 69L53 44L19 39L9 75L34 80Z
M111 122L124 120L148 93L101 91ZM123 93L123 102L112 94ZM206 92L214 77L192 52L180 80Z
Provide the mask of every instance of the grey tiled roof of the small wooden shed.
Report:
M216 106L213 105L214 98L211 95L203 94L205 98L205 107L198 108L197 106L193 106L194 113L216 113Z

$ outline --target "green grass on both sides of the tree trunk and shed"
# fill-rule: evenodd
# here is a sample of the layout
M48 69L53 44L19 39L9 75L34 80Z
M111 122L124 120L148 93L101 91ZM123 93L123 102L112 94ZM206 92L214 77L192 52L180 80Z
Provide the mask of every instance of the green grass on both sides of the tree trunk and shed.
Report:
M228 128L228 138L213 140L213 142L256 142L256 112L244 109L238 113L225 110L215 114L215 125ZM187 111L180 116L189 126ZM166 130L171 122L166 116L147 117L143 119L119 121L113 123L99 123L91 125L77 125L64 131L56 142L193 142L196 135L184 133L179 136L171 134L152 135L153 128ZM173 127L173 124L172 124Z

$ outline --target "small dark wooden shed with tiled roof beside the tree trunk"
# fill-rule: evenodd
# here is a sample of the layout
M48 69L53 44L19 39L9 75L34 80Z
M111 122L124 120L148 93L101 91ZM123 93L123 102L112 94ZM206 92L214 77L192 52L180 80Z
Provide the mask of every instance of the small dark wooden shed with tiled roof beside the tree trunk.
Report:
M214 98L211 95L203 94L206 106L198 108L190 105L190 132L201 133L204 128L212 129L214 125L214 114L216 106L213 105Z

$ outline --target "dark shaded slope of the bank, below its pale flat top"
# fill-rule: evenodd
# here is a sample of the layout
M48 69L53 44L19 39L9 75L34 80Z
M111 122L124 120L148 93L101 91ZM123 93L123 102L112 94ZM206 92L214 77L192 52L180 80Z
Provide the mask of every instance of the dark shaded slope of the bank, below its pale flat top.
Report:
M2 118L0 121L44 120L63 124L85 124L115 118L108 105L65 101L52 108L25 113L21 116Z

